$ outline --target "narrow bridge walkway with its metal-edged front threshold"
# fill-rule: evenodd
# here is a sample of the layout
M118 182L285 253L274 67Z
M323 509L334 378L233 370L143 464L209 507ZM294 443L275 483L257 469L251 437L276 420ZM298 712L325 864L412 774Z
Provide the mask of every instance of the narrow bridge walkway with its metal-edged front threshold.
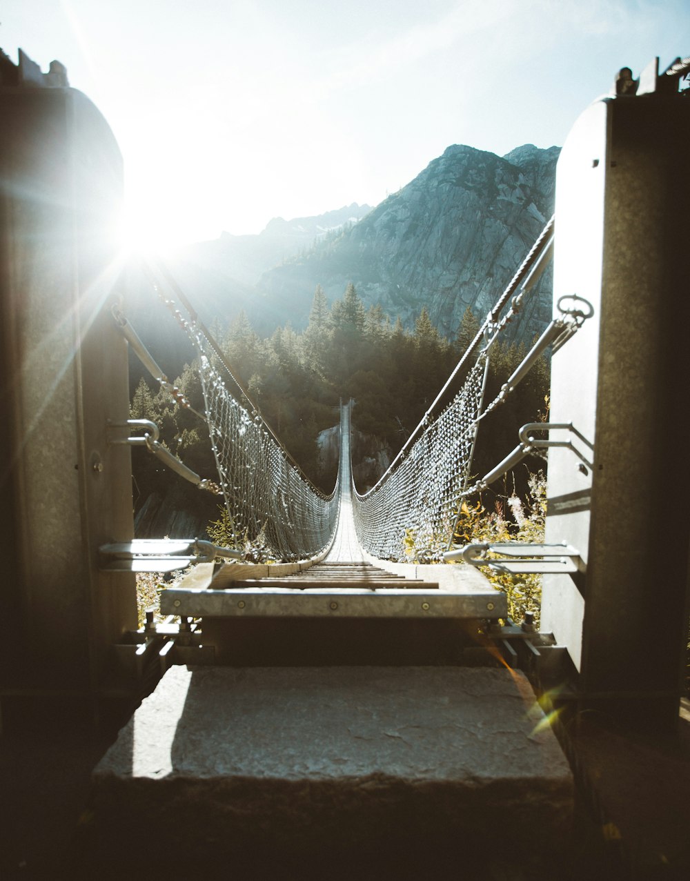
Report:
M321 559L300 563L202 564L161 596L161 611L204 618L499 618L497 593L471 566L421 566L371 557L352 513L351 405L341 407L338 525ZM339 596L334 596L338 594Z

